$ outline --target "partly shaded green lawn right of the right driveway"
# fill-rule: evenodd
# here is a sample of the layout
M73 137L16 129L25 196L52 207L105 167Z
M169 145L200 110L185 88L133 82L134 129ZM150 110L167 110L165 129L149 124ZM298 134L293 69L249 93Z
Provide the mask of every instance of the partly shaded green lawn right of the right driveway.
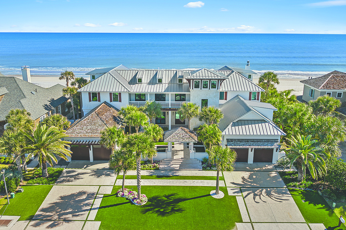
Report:
M326 228L338 226L339 217L318 192L298 189L289 189L289 191L308 223L323 223ZM346 229L346 227L342 224L336 229Z

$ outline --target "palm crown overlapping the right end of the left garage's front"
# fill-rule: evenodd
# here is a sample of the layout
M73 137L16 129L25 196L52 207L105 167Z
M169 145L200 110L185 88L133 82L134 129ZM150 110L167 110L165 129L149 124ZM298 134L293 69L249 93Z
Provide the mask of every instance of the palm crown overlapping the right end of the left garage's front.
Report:
M100 144L114 152L116 146L120 146L125 140L124 130L117 126L107 127L101 131Z

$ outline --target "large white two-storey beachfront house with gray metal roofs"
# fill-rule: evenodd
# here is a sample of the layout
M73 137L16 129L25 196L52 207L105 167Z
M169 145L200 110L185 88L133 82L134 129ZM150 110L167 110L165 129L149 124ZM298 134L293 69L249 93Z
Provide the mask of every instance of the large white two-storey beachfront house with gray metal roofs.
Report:
M219 70L203 68L194 71L129 69L120 65L86 73L91 82L78 91L81 92L83 116L104 102L120 109L126 105L143 106L146 100L156 101L161 104L163 115L152 122L169 130L188 127L189 121L180 121L176 113L183 102L193 102L201 107L215 106L224 114L219 123L222 144L236 150L237 161L275 163L279 157L280 136L285 134L272 122L276 108L260 102L264 90L252 82L254 74L249 62L245 69L224 66ZM85 116L82 119L85 120ZM200 124L197 118L191 119L191 129ZM174 135L172 132L170 134ZM82 136L78 138L80 143L88 145ZM206 155L193 154L194 138L189 141L173 139L190 143L190 158L201 160ZM172 147L169 145L167 149L166 153L159 154L159 158L170 158Z

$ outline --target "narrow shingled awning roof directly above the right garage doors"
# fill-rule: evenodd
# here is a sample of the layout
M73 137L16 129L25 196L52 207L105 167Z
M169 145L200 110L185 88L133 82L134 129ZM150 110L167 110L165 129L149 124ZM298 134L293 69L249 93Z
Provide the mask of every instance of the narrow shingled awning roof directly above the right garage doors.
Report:
M229 148L280 148L277 139L226 139Z

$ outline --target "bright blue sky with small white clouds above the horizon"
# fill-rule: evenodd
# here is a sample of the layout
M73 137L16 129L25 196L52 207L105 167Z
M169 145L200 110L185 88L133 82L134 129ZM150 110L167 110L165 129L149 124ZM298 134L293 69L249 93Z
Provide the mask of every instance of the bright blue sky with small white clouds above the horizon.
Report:
M4 0L0 32L346 33L346 0Z

